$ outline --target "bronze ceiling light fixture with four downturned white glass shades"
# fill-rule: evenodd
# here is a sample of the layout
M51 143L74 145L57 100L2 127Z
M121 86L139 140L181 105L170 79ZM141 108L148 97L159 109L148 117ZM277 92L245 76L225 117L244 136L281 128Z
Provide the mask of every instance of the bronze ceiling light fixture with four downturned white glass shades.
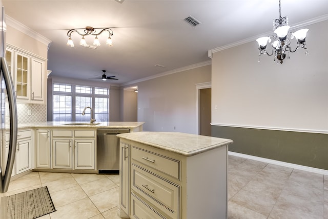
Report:
M68 41L67 41L67 46L70 46L70 47L74 47L74 43L73 43L73 41L72 41L72 38L71 38L71 34L73 33L73 32L76 32L76 33L78 33L79 35L81 35L82 36L82 38L81 38L81 41L80 41L80 46L84 46L84 47L86 47L86 46L88 46L87 45L87 42L86 42L86 39L84 38L84 36L86 36L86 35L94 35L94 36L96 36L95 38L94 38L94 42L93 42L93 45L94 46L100 46L100 42L99 42L99 39L98 39L98 35L100 35L101 33L103 33L104 31L108 31L108 33L109 33L109 36L108 36L108 38L107 38L107 41L106 41L106 44L108 45L108 46L112 46L113 44L112 44L112 38L111 38L111 36L113 35L113 31L110 29L110 28L104 28L103 30L101 30L99 33L96 33L96 30L95 30L95 28L93 28L93 27L86 27L86 29L84 29L84 33L80 33L80 32L78 32L78 30L76 30L76 29L71 29L71 30L69 30L68 32L67 32L67 36L69 37L68 38Z

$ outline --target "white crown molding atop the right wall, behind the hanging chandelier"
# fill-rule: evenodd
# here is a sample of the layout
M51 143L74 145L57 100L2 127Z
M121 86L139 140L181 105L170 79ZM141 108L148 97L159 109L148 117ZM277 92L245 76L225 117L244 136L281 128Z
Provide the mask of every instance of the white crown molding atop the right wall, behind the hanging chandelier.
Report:
M308 19L306 21L303 21L303 22L297 23L295 25L292 25L291 30L296 29L296 28L300 28L300 27L304 27L304 26L308 26L308 25L312 25L312 24L316 24L316 23L319 23L319 22L323 22L323 21L326 21L327 19L328 19L328 14L324 14L322 16L318 16L318 17L315 17L315 18L312 18L312 19ZM250 42L256 41L256 39L258 37L261 37L263 35L270 35L270 34L272 34L272 31L262 33L262 34L259 34L257 36L252 36L252 37L249 37L249 38L245 38L245 39L242 39L241 41L237 41L237 42L234 42L234 43L231 43L231 44L228 44L228 45L224 45L224 46L221 46L221 47L211 49L211 50L208 51L208 55L209 55L210 58L212 58L213 53L215 53L215 52L219 52L219 51L222 51L222 50L225 50L225 49L229 49L229 48L232 48L232 47L235 47L235 46L239 46L241 44L250 43Z

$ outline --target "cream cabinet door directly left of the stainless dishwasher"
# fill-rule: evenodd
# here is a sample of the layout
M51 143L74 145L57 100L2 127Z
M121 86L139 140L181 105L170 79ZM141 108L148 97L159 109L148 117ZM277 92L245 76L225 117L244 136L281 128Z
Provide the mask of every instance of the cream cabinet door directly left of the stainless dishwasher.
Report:
M75 169L94 169L94 140L75 140Z

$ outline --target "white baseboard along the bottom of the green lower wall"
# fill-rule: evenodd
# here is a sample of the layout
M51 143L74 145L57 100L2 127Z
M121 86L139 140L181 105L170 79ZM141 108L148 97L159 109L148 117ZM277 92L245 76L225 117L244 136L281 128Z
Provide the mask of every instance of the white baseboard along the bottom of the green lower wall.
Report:
M233 152L233 151L228 151L228 154L233 155L233 156L247 158L247 159L254 160L254 161L261 161L261 162L265 162L265 163L269 163L269 164L275 164L275 165L290 167L290 168L294 168L294 169L298 169L298 170L304 170L304 171L308 171L308 172L328 175L328 170L324 170L324 169L302 166L302 165L292 164L292 163L287 163L287 162L282 162L282 161L276 161L276 160L271 160L268 158L252 156L252 155L237 153L237 152Z

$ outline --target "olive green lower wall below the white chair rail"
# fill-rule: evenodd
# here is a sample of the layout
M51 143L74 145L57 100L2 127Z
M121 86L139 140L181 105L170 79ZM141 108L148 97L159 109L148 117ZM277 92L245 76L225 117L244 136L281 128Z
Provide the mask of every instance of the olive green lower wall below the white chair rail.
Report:
M234 141L229 151L328 170L328 134L212 126Z

